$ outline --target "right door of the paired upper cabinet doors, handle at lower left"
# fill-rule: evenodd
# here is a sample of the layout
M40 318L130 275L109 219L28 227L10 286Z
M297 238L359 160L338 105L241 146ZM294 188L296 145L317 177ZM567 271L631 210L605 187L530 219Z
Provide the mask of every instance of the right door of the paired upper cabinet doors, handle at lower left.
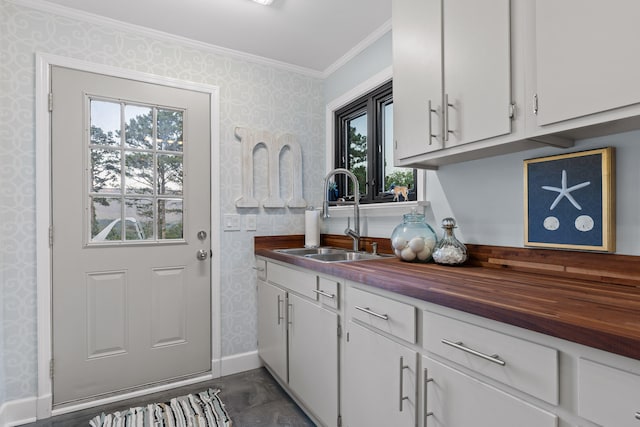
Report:
M443 0L445 147L511 132L509 0Z

